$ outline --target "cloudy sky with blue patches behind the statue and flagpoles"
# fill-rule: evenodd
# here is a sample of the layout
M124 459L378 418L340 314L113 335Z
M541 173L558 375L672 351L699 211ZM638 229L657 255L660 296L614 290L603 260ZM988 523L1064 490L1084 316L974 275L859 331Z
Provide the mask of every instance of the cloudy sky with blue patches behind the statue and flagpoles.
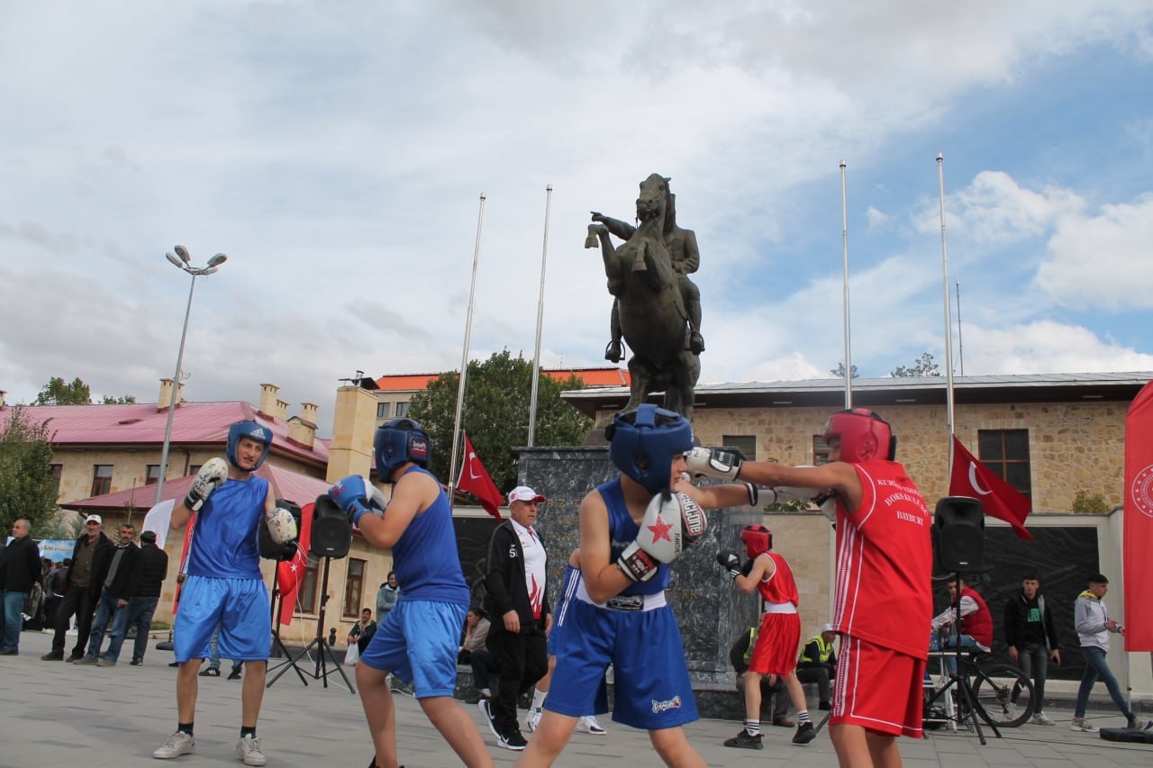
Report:
M186 397L472 357L604 364L588 211L671 176L696 232L702 382L944 363L1153 370L1153 3L0 5L0 390L155 401L196 281ZM959 284L960 334L956 330Z

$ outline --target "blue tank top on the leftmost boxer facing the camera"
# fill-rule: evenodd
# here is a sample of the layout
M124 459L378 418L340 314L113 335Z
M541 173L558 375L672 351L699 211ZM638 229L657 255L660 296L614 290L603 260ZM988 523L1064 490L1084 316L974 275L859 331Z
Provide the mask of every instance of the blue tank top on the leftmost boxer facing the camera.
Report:
M263 579L256 532L269 496L269 481L229 477L204 502L188 548L189 575Z

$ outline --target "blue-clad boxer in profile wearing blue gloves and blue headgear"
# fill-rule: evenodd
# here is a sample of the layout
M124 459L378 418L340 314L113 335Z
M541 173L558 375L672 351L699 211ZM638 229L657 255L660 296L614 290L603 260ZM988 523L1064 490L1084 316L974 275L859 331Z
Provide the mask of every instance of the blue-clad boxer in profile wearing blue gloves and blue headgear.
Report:
M393 483L387 505L360 475L345 477L329 491L366 541L392 549L402 589L356 664L356 685L376 748L370 766L399 765L390 672L413 683L421 709L466 766L492 766L476 723L453 699L457 646L469 595L449 497L425 468L429 438L415 421L393 419L377 429L374 449L377 475Z

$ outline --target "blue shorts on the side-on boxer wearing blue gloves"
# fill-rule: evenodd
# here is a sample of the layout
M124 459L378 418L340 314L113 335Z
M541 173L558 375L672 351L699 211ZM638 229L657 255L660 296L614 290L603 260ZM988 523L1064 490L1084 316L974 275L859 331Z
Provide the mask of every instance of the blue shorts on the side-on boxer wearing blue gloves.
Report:
M361 663L412 683L417 699L451 697L466 612L457 603L401 598L369 640Z

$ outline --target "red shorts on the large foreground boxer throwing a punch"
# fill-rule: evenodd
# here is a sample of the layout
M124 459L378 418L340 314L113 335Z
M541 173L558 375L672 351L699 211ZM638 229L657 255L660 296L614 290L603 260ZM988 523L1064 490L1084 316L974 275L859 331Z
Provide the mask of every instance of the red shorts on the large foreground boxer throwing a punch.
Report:
M924 738L925 660L842 635L830 725Z

